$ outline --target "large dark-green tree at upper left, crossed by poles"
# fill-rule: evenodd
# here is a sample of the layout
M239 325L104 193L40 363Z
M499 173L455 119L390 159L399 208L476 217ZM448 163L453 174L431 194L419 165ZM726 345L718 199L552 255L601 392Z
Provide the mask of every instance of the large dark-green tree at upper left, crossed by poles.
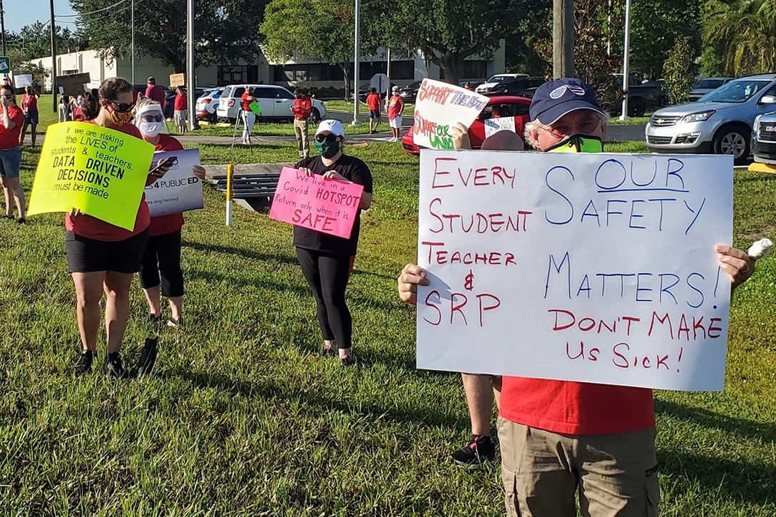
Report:
M104 0L71 0L75 12L105 9ZM135 52L185 72L185 0L135 0ZM110 57L131 56L130 4L109 12L97 12L80 19L81 33L89 47ZM264 12L263 0L220 0L197 2L194 17L195 68L200 64L234 61L252 62L261 43L258 26Z

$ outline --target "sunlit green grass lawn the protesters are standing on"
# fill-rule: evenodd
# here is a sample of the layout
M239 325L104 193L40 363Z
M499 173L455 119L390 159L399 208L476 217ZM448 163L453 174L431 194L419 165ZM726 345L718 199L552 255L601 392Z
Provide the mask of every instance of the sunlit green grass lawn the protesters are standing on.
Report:
M417 158L348 152L375 177L348 288L352 369L316 356L291 227L237 209L227 228L206 188L183 231L188 326L162 331L157 374L74 379L62 217L0 221L0 515L503 515L499 469L449 460L469 434L460 376L415 369L414 311L396 293L417 255ZM26 146L28 193L36 159ZM736 172L734 189L736 245L776 237L776 177ZM733 300L725 392L656 392L661 515L776 515L776 261L757 270ZM126 363L151 331L137 282L131 311Z

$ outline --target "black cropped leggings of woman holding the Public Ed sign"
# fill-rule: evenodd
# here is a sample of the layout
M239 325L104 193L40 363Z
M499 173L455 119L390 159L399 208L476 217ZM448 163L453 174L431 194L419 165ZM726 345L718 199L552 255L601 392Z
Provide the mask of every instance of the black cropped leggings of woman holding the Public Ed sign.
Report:
M140 260L140 287L151 289L158 286L159 273L161 273L161 293L168 298L182 297L180 230L148 238L143 259Z

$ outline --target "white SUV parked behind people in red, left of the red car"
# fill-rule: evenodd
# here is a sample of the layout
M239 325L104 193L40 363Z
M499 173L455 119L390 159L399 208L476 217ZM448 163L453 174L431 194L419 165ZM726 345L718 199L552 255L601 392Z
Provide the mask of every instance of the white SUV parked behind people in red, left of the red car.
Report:
M275 85L229 85L223 88L223 93L218 102L216 115L218 120L223 122L234 122L242 109L242 94L245 87L253 88L253 96L256 98L256 104L262 109L262 113L257 117L261 120L292 119L291 106L296 100L293 93L282 86ZM313 113L310 113L310 122L317 123L326 117L326 106L324 102L313 99Z

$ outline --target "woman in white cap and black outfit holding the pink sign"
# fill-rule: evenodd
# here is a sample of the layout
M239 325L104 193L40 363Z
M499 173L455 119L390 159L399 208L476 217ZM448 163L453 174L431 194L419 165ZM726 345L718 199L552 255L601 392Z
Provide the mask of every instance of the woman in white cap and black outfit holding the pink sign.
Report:
M360 213L372 203L372 173L359 158L342 153L344 144L342 123L324 120L315 132L314 145L319 155L304 158L296 168L307 175L344 180L364 187L350 238L295 226L293 244L317 304L318 324L324 336L323 355L339 355L341 365L350 366L355 363L355 357L350 353L353 322L345 304L345 288L359 244Z

